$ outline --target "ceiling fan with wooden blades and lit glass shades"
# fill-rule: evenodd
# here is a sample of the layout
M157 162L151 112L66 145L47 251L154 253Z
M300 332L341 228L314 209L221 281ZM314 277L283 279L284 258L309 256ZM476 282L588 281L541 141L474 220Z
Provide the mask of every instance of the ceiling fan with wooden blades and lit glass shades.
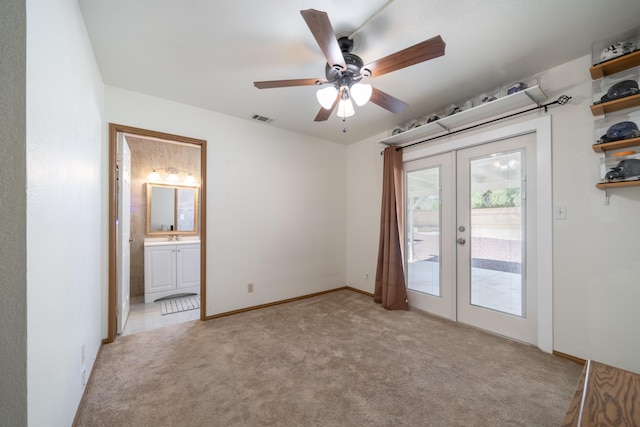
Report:
M445 43L435 36L421 43L388 55L377 61L365 64L357 55L351 53L353 40L349 37L337 38L326 12L315 9L301 10L300 14L307 23L320 50L327 59L325 79L291 79L254 82L258 89L272 89L291 86L321 86L316 96L322 108L315 121L329 118L338 106L338 116L349 117L355 113L351 100L361 106L369 100L380 107L400 113L409 105L369 84L362 83L366 78L374 78L420 62L444 55Z

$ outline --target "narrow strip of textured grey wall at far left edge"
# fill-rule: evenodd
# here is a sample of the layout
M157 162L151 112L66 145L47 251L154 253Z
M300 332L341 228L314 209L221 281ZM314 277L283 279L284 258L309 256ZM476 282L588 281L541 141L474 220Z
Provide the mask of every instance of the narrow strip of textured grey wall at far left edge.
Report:
M26 8L0 2L0 425L27 423Z

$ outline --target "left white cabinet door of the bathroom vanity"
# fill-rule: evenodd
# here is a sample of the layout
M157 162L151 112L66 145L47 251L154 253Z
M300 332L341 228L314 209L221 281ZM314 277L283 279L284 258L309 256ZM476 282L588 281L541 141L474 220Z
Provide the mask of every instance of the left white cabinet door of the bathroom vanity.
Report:
M144 292L176 288L176 246L156 246L144 251Z

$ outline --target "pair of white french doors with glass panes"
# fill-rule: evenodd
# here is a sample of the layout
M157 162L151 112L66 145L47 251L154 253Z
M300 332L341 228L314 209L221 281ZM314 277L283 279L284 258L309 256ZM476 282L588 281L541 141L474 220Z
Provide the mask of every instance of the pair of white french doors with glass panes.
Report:
M410 305L537 343L535 134L405 164Z

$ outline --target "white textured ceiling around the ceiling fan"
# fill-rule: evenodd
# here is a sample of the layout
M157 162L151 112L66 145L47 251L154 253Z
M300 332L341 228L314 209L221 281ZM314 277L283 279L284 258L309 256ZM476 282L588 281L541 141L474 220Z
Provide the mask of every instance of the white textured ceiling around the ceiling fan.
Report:
M105 84L349 144L455 101L591 53L640 25L638 0L395 0L355 37L365 63L441 35L445 56L372 79L409 104L395 115L356 107L316 123L316 88L259 90L254 81L324 77L300 15L328 13L349 35L386 0L78 0ZM586 70L585 70L586 73ZM343 128L347 132L343 132Z

